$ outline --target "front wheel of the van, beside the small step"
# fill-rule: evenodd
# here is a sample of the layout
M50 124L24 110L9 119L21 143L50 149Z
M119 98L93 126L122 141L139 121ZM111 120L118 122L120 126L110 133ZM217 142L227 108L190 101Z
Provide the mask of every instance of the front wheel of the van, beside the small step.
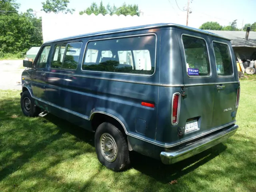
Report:
M25 116L35 117L40 113L40 108L35 106L34 99L31 97L29 91L22 92L20 106Z

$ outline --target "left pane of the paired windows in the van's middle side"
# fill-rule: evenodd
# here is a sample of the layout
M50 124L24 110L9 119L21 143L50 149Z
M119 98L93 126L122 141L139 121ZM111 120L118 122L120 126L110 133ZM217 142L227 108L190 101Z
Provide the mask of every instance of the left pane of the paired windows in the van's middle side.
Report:
M51 61L51 68L61 69L63 57L66 49L66 44L57 44L54 46L54 52Z

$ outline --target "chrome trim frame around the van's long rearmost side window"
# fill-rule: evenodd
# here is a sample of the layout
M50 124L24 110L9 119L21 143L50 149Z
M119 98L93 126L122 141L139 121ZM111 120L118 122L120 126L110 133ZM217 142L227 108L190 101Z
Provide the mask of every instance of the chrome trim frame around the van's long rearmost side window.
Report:
M110 40L110 39L118 39L118 38L128 38L128 37L137 37L137 36L150 36L150 35L154 35L156 36L156 40L155 40L155 60L154 60L154 72L150 75L147 74L136 74L136 73L118 73L118 72L108 72L108 71L90 71L90 70L83 70L83 64L84 64L84 58L85 58L85 54L86 54L86 50L88 47L88 43L92 42L92 41L100 41L100 40ZM105 73L105 74L120 74L120 75L134 75L134 76L153 76L156 73L156 46L157 46L157 35L156 33L143 33L143 34L136 34L136 35L126 35L126 36L116 36L116 37L109 37L109 38L100 38L100 39L90 39L86 42L86 46L84 48L84 55L83 55L83 59L82 59L82 64L81 64L81 71L82 72L92 72L92 73ZM151 65L152 66L152 65Z

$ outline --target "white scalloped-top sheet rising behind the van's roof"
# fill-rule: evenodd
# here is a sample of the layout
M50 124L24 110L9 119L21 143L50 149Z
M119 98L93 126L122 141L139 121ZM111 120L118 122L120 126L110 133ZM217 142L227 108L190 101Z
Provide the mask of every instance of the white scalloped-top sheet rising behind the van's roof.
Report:
M170 23L168 17L124 16L124 15L79 15L79 14L42 14L42 32L44 42L59 38L156 23ZM173 21L172 21L173 22Z

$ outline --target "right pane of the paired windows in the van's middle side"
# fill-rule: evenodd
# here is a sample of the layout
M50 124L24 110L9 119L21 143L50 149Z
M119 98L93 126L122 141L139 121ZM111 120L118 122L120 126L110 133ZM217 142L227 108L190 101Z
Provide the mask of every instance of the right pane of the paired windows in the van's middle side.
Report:
M82 43L69 43L64 56L62 69L76 70Z

